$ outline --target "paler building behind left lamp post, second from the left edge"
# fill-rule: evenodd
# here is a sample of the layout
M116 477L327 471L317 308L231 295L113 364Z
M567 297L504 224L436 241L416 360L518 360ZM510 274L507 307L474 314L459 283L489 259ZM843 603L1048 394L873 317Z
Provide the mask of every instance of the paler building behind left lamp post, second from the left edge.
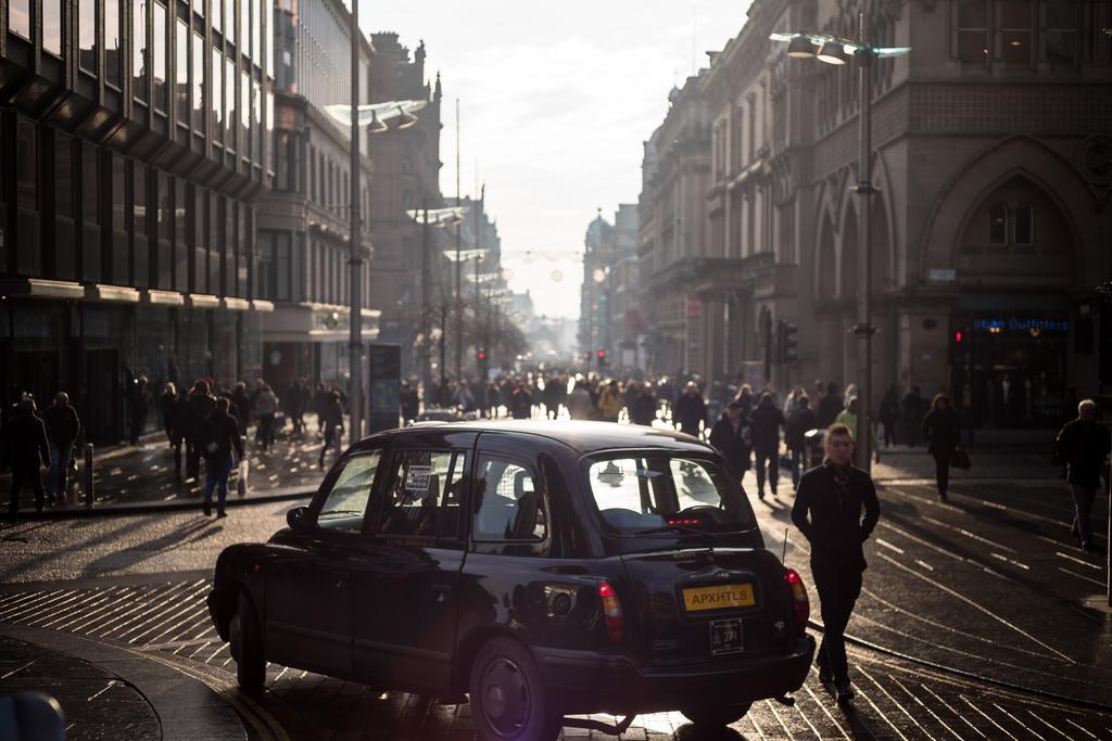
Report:
M351 100L350 16L340 0L277 0L275 180L259 203L258 297L262 374L279 395L297 379L348 383L351 128L325 112ZM375 49L359 39L360 100L369 100ZM378 336L371 293L370 133L360 132L363 338Z

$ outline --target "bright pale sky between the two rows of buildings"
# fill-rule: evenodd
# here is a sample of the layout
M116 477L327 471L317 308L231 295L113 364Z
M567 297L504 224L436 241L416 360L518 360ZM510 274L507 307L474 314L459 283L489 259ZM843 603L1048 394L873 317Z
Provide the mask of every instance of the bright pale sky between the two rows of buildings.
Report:
M577 317L587 224L636 203L668 92L745 23L748 0L360 1L364 30L424 39L444 84L440 189L486 184L510 288Z

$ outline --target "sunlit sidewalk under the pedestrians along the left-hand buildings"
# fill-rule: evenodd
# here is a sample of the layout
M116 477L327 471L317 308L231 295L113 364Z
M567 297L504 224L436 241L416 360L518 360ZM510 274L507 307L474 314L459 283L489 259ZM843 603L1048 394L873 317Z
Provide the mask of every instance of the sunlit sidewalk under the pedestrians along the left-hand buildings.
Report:
M325 469L317 464L324 440L316 432L316 420L306 420L307 432L294 437L287 432L268 450L262 451L255 442L254 428L247 439L247 494L237 493L238 472L232 471L228 484L228 502L274 501L310 495L320 485L327 467L336 460L329 452L325 457ZM348 444L342 441L344 447ZM185 451L182 451L185 469ZM70 482L69 495L63 504L47 505L47 517L75 515L89 512L81 490L83 461L78 459L79 472L76 482ZM182 471L183 473L183 471ZM46 481L46 471L42 473ZM205 465L201 464L198 479L178 481L173 471L173 450L166 435L147 435L137 447L120 445L98 454L93 461L93 509L92 511L125 512L136 509L199 507L205 485ZM11 477L0 477L0 499L7 505ZM34 495L30 487L24 487L20 495L20 515L34 515Z

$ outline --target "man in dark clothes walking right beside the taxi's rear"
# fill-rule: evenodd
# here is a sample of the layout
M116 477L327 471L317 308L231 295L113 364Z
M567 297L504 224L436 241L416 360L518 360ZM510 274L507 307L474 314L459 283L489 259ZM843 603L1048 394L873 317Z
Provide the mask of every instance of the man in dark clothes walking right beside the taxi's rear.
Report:
M853 465L853 448L848 428L827 428L823 438L826 459L800 479L792 508L792 522L811 543L811 573L822 602L823 643L815 657L818 679L824 684L833 682L838 702L853 699L844 633L867 565L862 544L881 513L873 480Z

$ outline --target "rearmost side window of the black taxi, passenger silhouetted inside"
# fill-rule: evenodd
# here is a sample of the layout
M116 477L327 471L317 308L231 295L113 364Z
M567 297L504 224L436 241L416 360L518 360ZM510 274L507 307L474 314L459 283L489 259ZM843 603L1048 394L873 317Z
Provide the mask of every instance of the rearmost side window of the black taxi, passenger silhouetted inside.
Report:
M548 534L540 487L520 463L480 455L473 502L477 541L542 541Z

